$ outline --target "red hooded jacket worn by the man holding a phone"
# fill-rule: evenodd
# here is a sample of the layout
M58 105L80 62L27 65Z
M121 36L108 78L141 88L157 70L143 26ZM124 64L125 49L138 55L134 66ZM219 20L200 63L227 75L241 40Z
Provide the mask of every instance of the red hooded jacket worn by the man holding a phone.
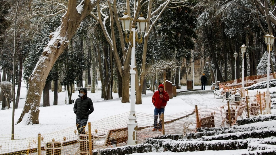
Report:
M160 95L160 91L159 88L162 87L163 91L162 91L162 95L163 98L161 98ZM167 101L169 101L170 96L169 94L164 90L164 85L160 84L158 86L158 90L154 92L153 96L152 96L152 103L154 104L154 106L158 109L160 108L165 108L165 106L167 105Z

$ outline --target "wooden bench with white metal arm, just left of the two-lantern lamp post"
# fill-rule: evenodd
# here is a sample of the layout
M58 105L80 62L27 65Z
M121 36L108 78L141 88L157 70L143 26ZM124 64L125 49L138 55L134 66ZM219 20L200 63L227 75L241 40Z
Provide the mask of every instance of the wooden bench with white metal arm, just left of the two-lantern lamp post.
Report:
M128 140L127 128L112 129L105 135L93 135L93 146L103 147L109 145L115 145L119 143L126 143Z

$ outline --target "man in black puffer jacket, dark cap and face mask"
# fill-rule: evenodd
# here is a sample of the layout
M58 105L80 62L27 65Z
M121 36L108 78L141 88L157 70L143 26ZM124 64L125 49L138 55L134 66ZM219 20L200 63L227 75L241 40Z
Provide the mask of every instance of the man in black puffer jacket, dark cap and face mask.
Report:
M85 134L85 126L88 121L88 115L94 111L91 98L87 97L87 88L78 90L79 95L74 104L74 113L76 114L76 126L78 134Z

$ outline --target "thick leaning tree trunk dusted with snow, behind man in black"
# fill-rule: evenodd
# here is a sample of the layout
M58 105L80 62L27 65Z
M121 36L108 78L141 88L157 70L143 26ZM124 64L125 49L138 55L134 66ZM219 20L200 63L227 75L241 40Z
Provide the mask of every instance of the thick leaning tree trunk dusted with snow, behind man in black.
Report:
M59 26L54 33L51 33L51 40L45 46L34 71L30 75L30 85L25 105L17 123L20 123L23 117L28 115L25 124L39 124L39 103L46 78L57 58L68 46L69 40L76 33L82 20L90 14L93 7L95 7L99 1L100 0L93 1L93 4L91 4L90 0L83 0L78 5L78 10L81 10L81 12L78 12L76 0L68 0L68 8L62 17L61 26Z

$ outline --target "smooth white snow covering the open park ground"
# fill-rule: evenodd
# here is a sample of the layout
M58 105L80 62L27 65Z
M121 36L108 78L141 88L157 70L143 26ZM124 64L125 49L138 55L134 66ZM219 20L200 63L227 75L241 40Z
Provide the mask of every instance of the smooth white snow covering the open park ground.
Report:
M23 84L23 83L22 83ZM194 89L201 89L201 86L195 86ZM210 90L211 86L206 86L206 90ZM182 86L182 89L177 89L177 92L186 90L186 86ZM261 92L266 91L266 89L261 89ZM276 91L276 88L270 88L270 91ZM256 90L252 90L252 93L256 92ZM58 94L58 105L53 106L53 92L50 92L50 106L49 107L40 107L39 113L39 123L36 125L24 125L24 122L15 125L15 136L20 135L21 138L27 137L36 137L38 133L42 135L45 133L52 133L55 131L59 131L62 129L66 129L72 126L75 126L75 114L73 112L74 104L65 104L65 93L61 92ZM152 92L147 91L148 95L142 97L142 104L135 105L135 111L152 114L154 113L154 106L151 101ZM88 122L97 121L106 117L114 116L121 113L126 113L130 111L130 103L121 103L120 98L118 98L118 94L113 94L113 100L106 100L104 101L101 99L101 92L90 93L88 92L88 96L92 99L94 105L94 112L89 115ZM21 88L20 94L20 102L18 109L15 109L15 122L20 117L22 112L22 108L25 103L26 97L26 88ZM78 91L72 94L72 99L78 98ZM68 100L68 98L67 98ZM273 100L273 99L272 99ZM42 103L42 99L41 99ZM0 103L1 104L1 103ZM193 94L193 95L182 95L176 96L170 99L167 103L165 108L165 115L171 115L180 113L183 111L187 111L190 109L194 109L194 105L198 106L208 106L208 107L217 107L221 105L227 104L227 101L223 101L222 99L214 98L214 95L209 92L206 94ZM12 104L11 104L12 105ZM116 110L114 110L116 109ZM272 110L272 113L276 113L275 110ZM12 116L12 109L9 110L0 110L0 137L4 137L7 135L11 135L11 116ZM276 126L276 121L270 121L269 123L253 123L246 126ZM9 136L8 136L9 137ZM0 149L0 153L2 153L5 144L7 143L0 140L0 145L2 148ZM240 154L240 153L248 152L247 150L226 150L226 151L201 151L201 152L185 152L188 155L212 155L212 154ZM137 154L137 153L135 153ZM173 152L152 152L152 153L142 153L148 155L154 154L183 154L183 153L173 153Z

